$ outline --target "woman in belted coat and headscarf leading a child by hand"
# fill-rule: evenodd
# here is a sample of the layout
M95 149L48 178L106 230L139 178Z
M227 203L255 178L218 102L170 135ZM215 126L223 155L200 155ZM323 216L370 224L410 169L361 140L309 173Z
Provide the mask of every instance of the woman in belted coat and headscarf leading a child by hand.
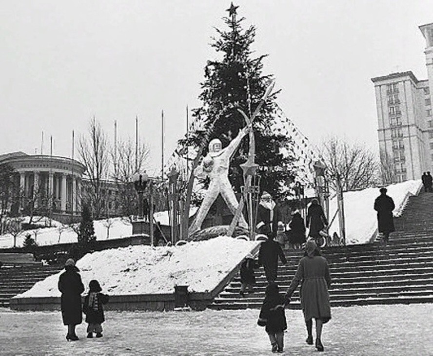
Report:
M316 323L317 351L323 351L321 341L322 326L331 319L331 305L329 302L328 288L331 285L331 276L326 259L320 256L319 249L313 240L308 240L305 245L305 255L299 261L295 277L286 292L286 303L301 282L299 291L301 297L302 312L308 337L307 344L313 345L313 318Z

